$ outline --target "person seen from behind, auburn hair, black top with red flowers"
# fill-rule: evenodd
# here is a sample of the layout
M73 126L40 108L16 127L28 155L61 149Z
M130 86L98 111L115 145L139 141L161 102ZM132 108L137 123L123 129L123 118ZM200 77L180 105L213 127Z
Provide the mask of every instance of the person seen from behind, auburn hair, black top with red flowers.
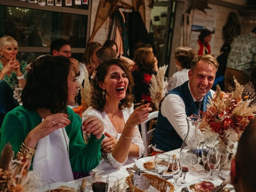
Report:
M132 72L135 84L135 103L139 103L142 99L145 103L150 103L150 82L152 75L157 74L154 70L154 54L148 48L138 48L134 52L134 62L138 68Z

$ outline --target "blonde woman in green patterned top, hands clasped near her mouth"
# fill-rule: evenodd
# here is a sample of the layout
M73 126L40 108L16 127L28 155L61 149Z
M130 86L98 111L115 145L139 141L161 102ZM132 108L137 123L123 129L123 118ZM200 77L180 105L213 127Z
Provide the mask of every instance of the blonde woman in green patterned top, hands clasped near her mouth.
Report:
M18 54L18 42L11 36L0 38L0 80L6 81L14 90L14 85L18 84L23 88L26 79L25 61L16 60Z

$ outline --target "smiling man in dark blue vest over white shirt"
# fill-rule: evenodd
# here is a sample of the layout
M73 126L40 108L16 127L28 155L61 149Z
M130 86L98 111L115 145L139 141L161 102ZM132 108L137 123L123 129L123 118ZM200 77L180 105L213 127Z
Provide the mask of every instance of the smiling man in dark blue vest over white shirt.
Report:
M206 110L208 97L214 83L217 60L209 55L196 56L191 62L188 79L181 86L171 90L159 105L158 120L153 136L153 154L180 148L188 132L186 117L198 116Z

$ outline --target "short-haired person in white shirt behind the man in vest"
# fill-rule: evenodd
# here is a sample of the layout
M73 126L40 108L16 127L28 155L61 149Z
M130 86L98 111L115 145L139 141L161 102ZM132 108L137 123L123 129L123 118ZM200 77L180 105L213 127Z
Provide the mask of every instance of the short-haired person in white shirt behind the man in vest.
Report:
M168 85L166 86L167 93L188 81L188 71L190 70L190 64L194 57L195 53L189 47L178 47L175 50L175 66L179 71L172 74L169 78Z

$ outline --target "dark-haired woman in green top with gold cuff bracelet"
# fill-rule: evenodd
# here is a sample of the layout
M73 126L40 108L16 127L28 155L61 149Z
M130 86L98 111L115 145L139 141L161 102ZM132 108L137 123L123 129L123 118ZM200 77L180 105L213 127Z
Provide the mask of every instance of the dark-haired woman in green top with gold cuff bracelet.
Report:
M25 156L30 169L40 171L47 183L74 180L72 171L90 172L100 161L103 128L91 127L90 140L84 143L81 118L67 107L74 103L79 86L70 60L42 56L27 69L23 105L5 116L0 151L10 142L14 153Z

